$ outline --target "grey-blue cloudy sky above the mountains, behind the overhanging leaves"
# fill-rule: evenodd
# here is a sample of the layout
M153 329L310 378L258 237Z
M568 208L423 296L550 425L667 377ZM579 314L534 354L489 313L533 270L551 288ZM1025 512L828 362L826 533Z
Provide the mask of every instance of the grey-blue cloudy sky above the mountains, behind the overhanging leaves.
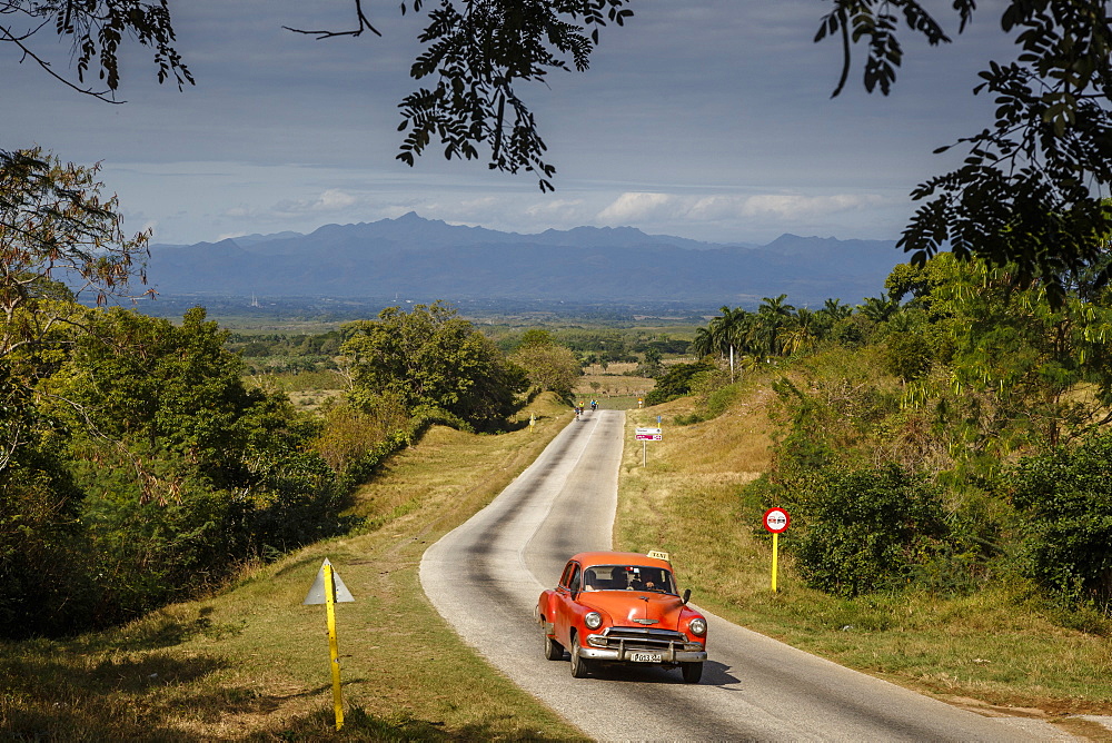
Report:
M397 2L364 4L385 38L316 40L281 28L348 24L350 0L171 0L197 85L158 86L149 55L130 53L121 106L0 48L0 147L37 143L101 162L126 229L151 228L156 242L408 211L518 232L594 225L717 242L784 232L895 239L912 188L960 159L932 150L990 123L992 101L972 95L976 71L1010 53L995 3L957 37L949 3L935 2L955 43L929 48L904 34L891 96L866 95L858 65L831 99L840 44L812 42L828 3L635 0L625 28L604 29L587 72L519 90L558 169L555 194L540 194L528 174L447 162L439 150L415 168L395 160L397 103L415 86L421 24ZM67 48L49 46L64 65Z

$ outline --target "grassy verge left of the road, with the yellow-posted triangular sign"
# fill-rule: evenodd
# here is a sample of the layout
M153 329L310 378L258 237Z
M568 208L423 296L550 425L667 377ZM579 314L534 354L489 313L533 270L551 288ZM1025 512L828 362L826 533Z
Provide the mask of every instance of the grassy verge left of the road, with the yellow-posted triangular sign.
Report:
M569 419L502 436L434 428L358 495L379 527L257 566L206 601L67 642L0 645L0 730L34 741L582 739L464 646L420 591L425 547L490 501ZM324 557L337 606L344 731L334 731Z

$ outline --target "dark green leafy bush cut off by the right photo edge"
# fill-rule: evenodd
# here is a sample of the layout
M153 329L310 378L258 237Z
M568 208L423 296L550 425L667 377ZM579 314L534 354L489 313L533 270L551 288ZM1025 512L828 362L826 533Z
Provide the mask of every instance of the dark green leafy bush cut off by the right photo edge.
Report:
M1112 435L1026 457L1009 482L1029 518L1029 575L1066 603L1112 610Z

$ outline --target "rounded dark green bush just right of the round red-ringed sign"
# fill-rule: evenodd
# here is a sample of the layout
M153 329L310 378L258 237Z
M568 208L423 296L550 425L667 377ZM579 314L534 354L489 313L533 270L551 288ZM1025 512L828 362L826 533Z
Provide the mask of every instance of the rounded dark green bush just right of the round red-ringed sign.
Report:
M906 585L946 534L937 491L894 465L832 472L816 481L807 506L795 547L800 573L836 596Z

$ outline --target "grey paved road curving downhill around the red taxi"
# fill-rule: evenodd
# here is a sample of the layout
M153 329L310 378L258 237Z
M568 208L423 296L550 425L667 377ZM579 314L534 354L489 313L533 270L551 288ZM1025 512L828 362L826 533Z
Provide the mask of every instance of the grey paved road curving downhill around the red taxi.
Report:
M714 615L698 685L656 667L575 680L567 661L546 661L533 608L568 556L610 548L624 420L622 412L597 410L569 424L421 561L437 611L519 686L598 740L1069 740L1049 725L1024 731L1021 721L957 710Z

